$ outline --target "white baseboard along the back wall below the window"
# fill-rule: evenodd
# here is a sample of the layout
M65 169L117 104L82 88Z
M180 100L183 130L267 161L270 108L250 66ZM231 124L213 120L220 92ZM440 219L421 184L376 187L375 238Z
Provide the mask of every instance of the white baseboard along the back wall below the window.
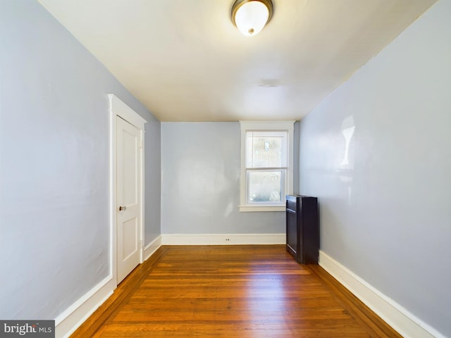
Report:
M163 234L163 245L285 244L283 234Z

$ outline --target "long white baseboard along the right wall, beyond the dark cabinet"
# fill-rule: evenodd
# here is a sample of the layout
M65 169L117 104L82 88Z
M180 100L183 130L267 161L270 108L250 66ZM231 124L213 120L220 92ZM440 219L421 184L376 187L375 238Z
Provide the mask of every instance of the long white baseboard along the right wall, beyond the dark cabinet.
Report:
M351 270L319 251L319 265L405 338L445 338Z

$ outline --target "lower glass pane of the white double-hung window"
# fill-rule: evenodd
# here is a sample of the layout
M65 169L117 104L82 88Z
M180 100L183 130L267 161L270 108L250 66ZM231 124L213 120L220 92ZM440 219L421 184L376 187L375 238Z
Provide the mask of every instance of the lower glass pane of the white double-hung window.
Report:
M285 170L248 171L248 203L282 202Z

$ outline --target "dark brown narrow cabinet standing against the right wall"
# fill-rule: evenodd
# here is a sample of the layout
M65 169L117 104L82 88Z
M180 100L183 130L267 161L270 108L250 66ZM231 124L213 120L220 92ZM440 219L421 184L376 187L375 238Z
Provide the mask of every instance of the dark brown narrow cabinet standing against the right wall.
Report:
M287 251L299 264L318 264L318 199L287 196Z

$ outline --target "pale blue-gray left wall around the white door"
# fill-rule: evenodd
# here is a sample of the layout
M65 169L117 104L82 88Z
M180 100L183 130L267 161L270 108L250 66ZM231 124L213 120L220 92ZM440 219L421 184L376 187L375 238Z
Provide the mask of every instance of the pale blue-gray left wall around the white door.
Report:
M149 121L145 242L160 126L36 1L0 1L0 49L0 318L52 319L109 273L106 94Z

